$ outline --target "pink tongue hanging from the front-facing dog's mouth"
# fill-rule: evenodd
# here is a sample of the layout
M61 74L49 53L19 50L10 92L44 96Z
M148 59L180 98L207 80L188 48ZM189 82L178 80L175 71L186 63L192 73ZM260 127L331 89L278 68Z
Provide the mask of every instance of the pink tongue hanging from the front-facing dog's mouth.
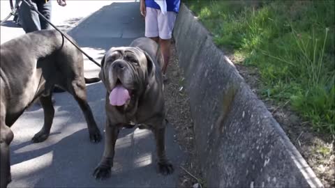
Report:
M128 90L121 85L117 85L112 92L110 92L110 104L112 106L122 106L126 104L130 98L131 96Z

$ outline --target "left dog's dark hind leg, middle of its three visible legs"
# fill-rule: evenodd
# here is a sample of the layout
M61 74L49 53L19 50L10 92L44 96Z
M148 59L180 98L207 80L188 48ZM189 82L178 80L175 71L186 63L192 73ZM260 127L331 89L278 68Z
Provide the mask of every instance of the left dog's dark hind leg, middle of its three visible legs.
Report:
M50 134L52 120L54 120L54 106L52 105L52 95L40 96L40 104L44 111L44 125L42 129L35 134L32 141L35 143L45 141Z

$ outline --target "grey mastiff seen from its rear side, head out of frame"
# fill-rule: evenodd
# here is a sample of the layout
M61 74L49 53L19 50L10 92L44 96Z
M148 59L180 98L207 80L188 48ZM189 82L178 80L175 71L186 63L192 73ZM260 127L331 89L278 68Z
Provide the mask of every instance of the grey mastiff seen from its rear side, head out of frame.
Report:
M101 140L94 116L87 103L82 53L58 31L43 30L10 40L0 49L0 187L11 180L9 145L13 140L10 126L34 100L40 100L44 111L44 125L33 137L34 142L45 141L50 134L54 107L52 90L55 85L72 94L82 109L91 141Z

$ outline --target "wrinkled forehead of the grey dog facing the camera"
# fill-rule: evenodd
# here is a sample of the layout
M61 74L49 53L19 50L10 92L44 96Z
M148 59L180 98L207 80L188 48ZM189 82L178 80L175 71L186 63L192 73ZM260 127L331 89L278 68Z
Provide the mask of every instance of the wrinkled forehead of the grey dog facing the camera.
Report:
M145 58L143 51L138 47L112 47L105 53L105 61L115 60L118 58L138 58L139 61Z

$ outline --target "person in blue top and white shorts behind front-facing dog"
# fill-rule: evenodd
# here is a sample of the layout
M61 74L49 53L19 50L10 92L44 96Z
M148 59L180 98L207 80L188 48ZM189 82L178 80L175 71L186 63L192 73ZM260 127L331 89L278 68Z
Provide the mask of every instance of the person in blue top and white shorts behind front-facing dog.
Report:
M164 1L141 0L140 11L141 15L145 17L145 37L155 40L161 47L161 53L164 58L162 72L166 81L166 70L170 61L170 40L172 38L174 22L179 12L180 0ZM165 5L161 8L163 3Z

